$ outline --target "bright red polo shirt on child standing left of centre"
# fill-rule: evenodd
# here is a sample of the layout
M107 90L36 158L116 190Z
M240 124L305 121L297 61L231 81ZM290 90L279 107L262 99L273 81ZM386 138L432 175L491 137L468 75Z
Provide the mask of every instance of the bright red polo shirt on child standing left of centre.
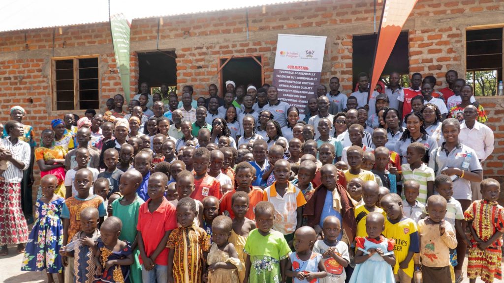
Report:
M149 202L151 200L149 198L140 205L137 223L137 230L142 233L145 254L147 256L151 256L156 250L166 231L177 228L175 206L163 197L163 201L159 207L154 213L151 213L149 211ZM138 258L140 264L142 264L142 257L139 256ZM168 249L164 248L154 262L159 265L168 265Z

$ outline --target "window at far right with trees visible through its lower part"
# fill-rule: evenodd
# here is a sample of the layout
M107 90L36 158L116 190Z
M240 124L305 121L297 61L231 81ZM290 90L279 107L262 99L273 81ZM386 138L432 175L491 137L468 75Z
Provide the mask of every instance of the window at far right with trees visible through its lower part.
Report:
M474 95L497 95L502 80L502 28L466 31L466 82Z

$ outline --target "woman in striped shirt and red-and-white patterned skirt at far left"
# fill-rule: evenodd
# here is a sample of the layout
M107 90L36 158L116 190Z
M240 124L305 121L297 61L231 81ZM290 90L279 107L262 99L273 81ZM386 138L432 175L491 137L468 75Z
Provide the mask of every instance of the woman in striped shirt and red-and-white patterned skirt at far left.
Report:
M17 252L24 252L28 241L28 226L21 210L21 180L23 170L30 166L30 145L21 140L24 126L20 122L7 122L5 130L9 136L2 139L2 145L7 151L0 153L0 160L9 161L9 165L0 181L0 256L9 253L9 244L17 244Z

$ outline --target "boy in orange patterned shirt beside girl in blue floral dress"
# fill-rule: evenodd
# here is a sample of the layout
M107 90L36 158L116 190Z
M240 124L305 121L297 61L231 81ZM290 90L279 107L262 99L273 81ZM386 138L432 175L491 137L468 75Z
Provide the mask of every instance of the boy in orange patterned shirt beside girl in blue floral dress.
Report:
M79 149L79 151L87 150ZM77 155L79 156L80 153L78 152ZM103 217L107 215L106 207L103 204L103 198L92 193L93 180L93 172L89 169L79 169L75 174L73 182L77 193L75 196L67 198L61 209L61 219L63 220L63 246L67 245L69 239L73 239L77 232L81 230L80 213L84 208L97 208L100 223L103 221ZM68 282L72 282L74 280L74 261L69 261L67 257L64 256L62 262L64 265L68 264L68 271L65 272L65 280L67 281L68 279Z

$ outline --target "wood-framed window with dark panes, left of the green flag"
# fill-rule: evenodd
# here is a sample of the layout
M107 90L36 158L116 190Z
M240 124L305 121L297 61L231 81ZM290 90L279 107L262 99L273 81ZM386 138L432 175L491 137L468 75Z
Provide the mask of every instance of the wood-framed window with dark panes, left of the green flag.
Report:
M54 110L99 108L98 58L52 60Z

